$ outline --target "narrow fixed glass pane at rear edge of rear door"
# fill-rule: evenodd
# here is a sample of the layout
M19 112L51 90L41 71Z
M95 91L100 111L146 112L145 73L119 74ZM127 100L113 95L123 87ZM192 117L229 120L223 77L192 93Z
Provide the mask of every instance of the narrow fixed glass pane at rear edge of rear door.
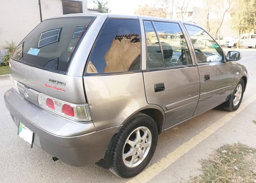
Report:
M163 56L156 32L150 21L144 21L147 42L147 66L148 68L163 68Z

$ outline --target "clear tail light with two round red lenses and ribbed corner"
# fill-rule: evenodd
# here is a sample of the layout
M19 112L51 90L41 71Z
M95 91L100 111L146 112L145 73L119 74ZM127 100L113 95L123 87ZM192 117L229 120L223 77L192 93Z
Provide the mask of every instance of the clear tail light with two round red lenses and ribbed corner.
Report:
M91 121L88 104L71 104L59 99L54 99L42 93L38 94L39 106L56 114L74 119L76 121Z

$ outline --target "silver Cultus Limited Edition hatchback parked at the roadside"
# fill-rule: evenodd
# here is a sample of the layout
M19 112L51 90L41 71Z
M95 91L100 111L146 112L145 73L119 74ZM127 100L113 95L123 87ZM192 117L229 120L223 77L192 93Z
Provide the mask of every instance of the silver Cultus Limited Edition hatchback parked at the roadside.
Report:
M248 79L240 58L189 22L63 15L18 45L5 105L29 147L129 178L162 131L218 105L239 107Z

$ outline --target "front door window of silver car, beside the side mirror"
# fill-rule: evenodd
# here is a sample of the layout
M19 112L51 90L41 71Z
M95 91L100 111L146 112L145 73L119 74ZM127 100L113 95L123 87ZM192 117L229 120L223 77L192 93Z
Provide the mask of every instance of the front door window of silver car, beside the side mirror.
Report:
M203 29L185 24L196 52L198 63L224 61L220 46Z

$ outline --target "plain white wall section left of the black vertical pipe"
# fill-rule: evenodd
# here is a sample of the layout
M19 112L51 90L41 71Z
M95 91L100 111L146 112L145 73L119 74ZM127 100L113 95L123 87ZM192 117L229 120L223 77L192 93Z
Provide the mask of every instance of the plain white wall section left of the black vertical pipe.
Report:
M17 45L40 23L39 5L36 0L2 0L0 11L0 46L5 40Z

